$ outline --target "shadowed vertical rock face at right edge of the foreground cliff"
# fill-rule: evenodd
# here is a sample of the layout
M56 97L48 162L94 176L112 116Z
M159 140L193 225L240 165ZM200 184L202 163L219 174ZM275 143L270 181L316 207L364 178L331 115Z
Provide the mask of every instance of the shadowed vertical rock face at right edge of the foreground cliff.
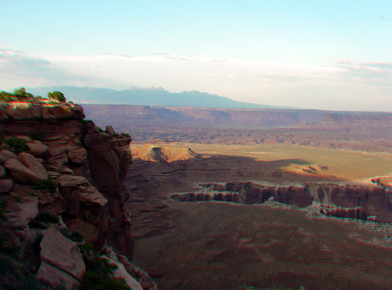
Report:
M129 192L122 184L131 163L129 143L132 139L126 136L115 137L111 130L109 128L108 134L89 128L82 142L87 149L94 185L108 200L105 206L105 215L110 217L106 219L109 230L107 243L132 259L131 222L123 208Z

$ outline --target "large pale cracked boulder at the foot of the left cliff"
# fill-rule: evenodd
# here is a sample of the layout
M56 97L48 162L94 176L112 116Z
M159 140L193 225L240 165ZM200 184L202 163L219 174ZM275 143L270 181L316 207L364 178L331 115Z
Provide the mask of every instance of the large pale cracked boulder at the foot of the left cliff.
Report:
M42 238L40 247L42 264L37 272L38 279L49 286L64 281L67 289L80 284L86 266L71 240L50 227Z

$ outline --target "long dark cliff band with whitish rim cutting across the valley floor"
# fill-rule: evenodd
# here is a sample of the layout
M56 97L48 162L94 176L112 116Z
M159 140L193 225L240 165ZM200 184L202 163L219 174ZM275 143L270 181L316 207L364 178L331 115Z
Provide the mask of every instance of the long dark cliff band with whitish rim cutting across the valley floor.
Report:
M272 186L255 182L199 184L192 193L175 194L176 201L230 201L245 204L277 201L301 208L320 203L320 213L379 223L392 222L392 178L352 183L305 183ZM370 218L371 217L371 218Z

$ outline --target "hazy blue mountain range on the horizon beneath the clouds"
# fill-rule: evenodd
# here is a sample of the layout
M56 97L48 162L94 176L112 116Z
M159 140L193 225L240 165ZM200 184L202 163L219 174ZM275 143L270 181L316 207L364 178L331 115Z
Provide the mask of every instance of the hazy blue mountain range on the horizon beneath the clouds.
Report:
M227 97L197 90L178 93L159 88L137 88L115 90L91 87L40 87L25 88L34 95L46 96L49 91L61 91L69 101L79 104L122 104L157 107L201 107L239 109L293 109L282 106L260 105L234 101Z

